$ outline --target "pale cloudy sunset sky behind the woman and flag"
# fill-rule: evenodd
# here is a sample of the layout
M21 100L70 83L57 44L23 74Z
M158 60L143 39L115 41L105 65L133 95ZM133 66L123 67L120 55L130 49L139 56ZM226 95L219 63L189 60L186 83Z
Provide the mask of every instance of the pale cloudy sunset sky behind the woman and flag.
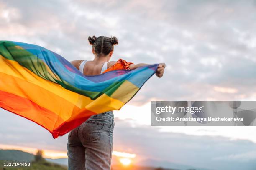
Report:
M184 141L192 140L222 148L213 153L201 148L197 157L205 164L224 158L256 160L254 127L150 126L151 100L255 100L255 28L255 0L0 0L1 40L40 45L72 61L93 59L88 36L115 36L119 44L111 60L166 63L164 77L152 77L133 100L115 111L114 150L136 153L138 159L153 159L147 150L154 148L151 153L158 159L181 163L187 158L184 153L195 153L182 148ZM66 135L53 140L28 120L4 110L0 115L0 148L67 152ZM165 141L171 139L180 152L168 147ZM195 149L195 143L186 146ZM243 148L244 143L254 151ZM162 154L165 148L170 152ZM190 158L184 163L200 164Z

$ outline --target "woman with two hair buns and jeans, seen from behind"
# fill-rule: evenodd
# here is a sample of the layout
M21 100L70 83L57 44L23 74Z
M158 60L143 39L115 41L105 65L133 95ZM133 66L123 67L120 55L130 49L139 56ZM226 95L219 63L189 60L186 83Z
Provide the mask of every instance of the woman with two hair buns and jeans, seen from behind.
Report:
M74 60L72 65L84 75L99 75L111 70L133 70L147 64L133 64L119 59L109 61L113 55L116 37L89 37L94 60ZM156 76L162 77L165 64L159 64ZM113 111L92 115L68 135L69 170L110 170L113 148Z

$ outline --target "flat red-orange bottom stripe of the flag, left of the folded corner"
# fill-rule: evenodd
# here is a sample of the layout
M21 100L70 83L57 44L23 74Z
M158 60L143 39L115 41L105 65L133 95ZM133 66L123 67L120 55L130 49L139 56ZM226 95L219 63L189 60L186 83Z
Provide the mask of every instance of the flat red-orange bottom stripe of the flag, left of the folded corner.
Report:
M31 100L1 90L0 107L36 122L51 133L54 130L54 125L58 127L64 122L54 112L37 105Z

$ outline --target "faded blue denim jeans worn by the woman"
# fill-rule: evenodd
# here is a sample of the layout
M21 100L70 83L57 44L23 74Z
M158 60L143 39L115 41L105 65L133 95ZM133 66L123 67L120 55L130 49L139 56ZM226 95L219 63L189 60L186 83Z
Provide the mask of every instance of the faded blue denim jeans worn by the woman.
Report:
M110 170L114 130L113 111L92 115L68 135L69 170Z

